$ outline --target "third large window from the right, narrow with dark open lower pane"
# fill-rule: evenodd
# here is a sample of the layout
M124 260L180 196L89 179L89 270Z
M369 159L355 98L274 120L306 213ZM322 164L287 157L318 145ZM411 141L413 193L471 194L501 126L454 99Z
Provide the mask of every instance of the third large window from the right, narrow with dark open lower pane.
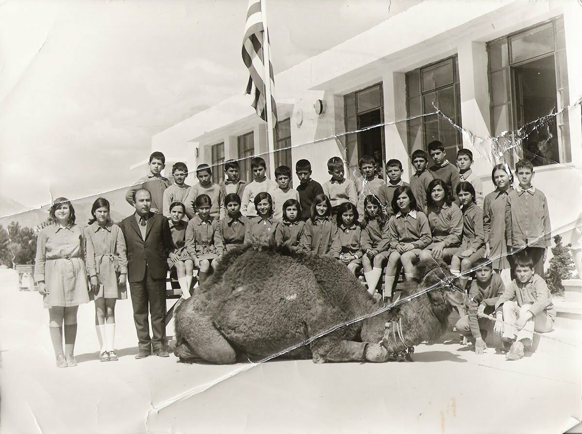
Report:
M371 155L384 160L384 95L382 83L347 94L343 97L346 124L346 148L349 170L358 171L358 160ZM370 128L369 127L374 127ZM361 131L364 129L364 131ZM357 133L353 133L358 131Z

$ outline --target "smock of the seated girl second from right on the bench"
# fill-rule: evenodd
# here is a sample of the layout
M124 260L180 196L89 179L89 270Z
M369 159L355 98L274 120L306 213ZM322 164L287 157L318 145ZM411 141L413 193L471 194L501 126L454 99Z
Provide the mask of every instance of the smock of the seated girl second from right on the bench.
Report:
M457 204L430 205L425 212L431 226L431 244L442 242L445 248L458 247L463 234L463 213Z

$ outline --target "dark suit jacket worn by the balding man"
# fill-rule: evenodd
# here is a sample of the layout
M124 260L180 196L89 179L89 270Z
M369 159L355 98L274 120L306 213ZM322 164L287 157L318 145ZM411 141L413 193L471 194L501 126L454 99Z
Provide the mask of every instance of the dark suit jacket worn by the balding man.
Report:
M139 282L145 277L145 267L154 279L166 278L168 255L173 251L172 232L168 218L150 213L145 228L145 240L141 238L135 214L119 224L127 246L127 279Z

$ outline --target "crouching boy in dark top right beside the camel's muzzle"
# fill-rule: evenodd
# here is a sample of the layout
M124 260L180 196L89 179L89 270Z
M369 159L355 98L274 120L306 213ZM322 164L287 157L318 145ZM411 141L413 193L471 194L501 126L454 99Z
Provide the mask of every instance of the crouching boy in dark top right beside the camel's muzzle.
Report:
M475 278L469 289L469 314L457 321L457 331L475 345L475 352L483 354L487 345L487 333L493 329L493 322L484 315L493 315L495 304L505 292L505 285L499 274L493 272L491 260L481 257L473 263Z

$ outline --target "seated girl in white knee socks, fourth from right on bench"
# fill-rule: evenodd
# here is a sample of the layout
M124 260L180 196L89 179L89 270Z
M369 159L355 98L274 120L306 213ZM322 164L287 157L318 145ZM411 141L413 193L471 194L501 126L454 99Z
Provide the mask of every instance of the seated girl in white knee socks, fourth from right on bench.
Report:
M374 295L382 276L382 266L390 256L390 238L386 228L386 217L378 196L368 195L364 199L364 223L361 237L362 268L368 284L368 292ZM385 237L383 238L383 232Z

